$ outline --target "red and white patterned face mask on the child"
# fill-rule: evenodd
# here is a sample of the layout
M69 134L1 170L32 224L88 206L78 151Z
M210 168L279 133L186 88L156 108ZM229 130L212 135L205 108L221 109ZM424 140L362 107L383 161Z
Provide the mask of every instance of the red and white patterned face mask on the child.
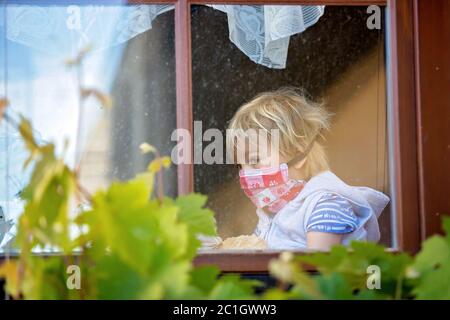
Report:
M286 163L279 167L239 171L239 182L257 208L280 211L303 189L304 182L290 179Z

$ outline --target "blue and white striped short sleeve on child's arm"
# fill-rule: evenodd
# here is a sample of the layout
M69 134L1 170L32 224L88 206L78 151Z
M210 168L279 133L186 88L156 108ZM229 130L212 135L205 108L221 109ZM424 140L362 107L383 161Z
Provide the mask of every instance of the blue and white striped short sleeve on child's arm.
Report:
M345 234L355 231L357 224L350 202L339 195L326 194L313 209L306 231Z

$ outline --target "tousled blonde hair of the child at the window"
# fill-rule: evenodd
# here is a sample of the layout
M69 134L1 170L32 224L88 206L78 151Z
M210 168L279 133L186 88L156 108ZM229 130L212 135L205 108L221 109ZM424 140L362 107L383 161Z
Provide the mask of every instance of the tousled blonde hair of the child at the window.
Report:
M324 130L329 130L330 117L323 104L308 100L299 89L284 87L262 92L242 105L228 128L241 132L262 129L269 142L271 129L279 129L279 151L288 159L304 152L313 143L300 169L302 175L309 179L329 169L324 147L317 140L323 138ZM229 150L236 153L236 136L227 135L227 140L231 147Z

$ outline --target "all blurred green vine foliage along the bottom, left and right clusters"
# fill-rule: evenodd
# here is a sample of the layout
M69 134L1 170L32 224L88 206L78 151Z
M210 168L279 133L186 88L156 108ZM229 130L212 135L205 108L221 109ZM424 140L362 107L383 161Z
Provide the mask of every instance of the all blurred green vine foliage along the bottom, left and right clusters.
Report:
M162 181L170 166L153 146L141 146L155 155L146 172L91 195L77 172L56 156L54 145L38 145L27 120L21 120L19 131L30 154L25 166L33 162L34 167L22 193L20 257L0 266L13 298L450 299L450 218L443 222L446 235L426 240L415 257L368 242L297 256L283 252L269 264L278 286L257 296L256 281L220 276L214 266L193 267L201 244L197 236L216 235L214 214L200 194L153 195L155 177ZM72 217L74 203L82 202L85 209ZM80 230L77 237L71 236L73 226ZM32 254L36 247L61 254L38 256ZM80 271L75 289L69 289L71 266ZM307 266L316 272L305 271ZM377 289L369 289L371 266L380 271Z

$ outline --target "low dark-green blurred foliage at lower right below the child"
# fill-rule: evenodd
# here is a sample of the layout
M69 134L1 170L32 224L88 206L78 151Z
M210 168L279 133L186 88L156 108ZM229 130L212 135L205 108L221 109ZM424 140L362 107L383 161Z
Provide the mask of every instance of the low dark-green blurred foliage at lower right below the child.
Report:
M415 257L357 241L349 248L335 246L330 252L282 253L269 265L280 285L268 290L264 298L450 299L450 218L444 217L443 226L446 235L424 241ZM372 266L380 272L375 288ZM304 271L308 267L317 274Z

